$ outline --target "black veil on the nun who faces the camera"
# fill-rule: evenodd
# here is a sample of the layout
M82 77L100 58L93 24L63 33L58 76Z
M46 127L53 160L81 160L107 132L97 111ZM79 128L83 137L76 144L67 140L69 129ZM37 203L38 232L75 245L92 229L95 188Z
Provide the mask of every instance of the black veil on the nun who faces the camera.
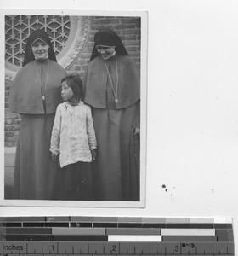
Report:
M32 32L27 39L23 66L35 60L35 56L32 53L31 44L33 44L37 39L42 39L45 43L48 44L48 59L57 62L54 54L54 49L50 42L50 38L48 37L48 33L44 32L42 29L37 29L36 31Z

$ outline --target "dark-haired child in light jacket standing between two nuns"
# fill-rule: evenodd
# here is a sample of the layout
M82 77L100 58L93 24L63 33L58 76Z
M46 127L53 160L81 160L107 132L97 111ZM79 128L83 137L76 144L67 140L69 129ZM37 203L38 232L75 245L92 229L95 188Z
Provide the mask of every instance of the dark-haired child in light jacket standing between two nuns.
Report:
M81 102L82 80L61 80L64 100L56 109L51 136L52 159L62 168L64 200L94 200L91 161L96 159L96 137L91 108Z

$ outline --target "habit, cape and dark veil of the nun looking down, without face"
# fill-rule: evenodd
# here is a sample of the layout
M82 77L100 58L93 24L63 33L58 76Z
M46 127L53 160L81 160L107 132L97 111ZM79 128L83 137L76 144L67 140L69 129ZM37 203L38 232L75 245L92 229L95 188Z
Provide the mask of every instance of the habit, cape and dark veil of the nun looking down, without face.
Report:
M139 201L133 137L133 128L139 127L139 73L111 29L99 30L94 42L84 79L84 102L92 107L98 142L95 195L101 201ZM98 45L116 46L116 55L104 60Z

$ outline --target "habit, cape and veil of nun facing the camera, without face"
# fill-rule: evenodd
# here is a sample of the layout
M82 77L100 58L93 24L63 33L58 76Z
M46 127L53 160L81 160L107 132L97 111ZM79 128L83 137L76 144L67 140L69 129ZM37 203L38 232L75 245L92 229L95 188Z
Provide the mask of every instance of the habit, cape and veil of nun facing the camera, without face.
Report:
M35 59L31 46L37 40L48 44L48 58ZM54 173L59 164L51 160L50 137L56 107L61 102L60 81L65 69L56 62L48 34L32 32L26 44L24 63L10 89L9 108L20 113L20 134L14 166L14 199L54 199ZM52 179L52 180L51 180Z

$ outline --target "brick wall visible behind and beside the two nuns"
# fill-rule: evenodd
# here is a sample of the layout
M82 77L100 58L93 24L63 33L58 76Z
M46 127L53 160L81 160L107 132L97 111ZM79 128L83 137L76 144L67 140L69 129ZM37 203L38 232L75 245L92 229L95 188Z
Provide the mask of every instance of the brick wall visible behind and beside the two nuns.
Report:
M109 27L118 34L128 54L140 67L139 17L90 16L88 19L90 20L90 32L87 44L82 54L67 68L68 73L79 73L83 76L94 48L94 34L102 27ZM5 81L5 147L16 146L20 130L20 115L8 111L8 95L11 84L11 82Z

